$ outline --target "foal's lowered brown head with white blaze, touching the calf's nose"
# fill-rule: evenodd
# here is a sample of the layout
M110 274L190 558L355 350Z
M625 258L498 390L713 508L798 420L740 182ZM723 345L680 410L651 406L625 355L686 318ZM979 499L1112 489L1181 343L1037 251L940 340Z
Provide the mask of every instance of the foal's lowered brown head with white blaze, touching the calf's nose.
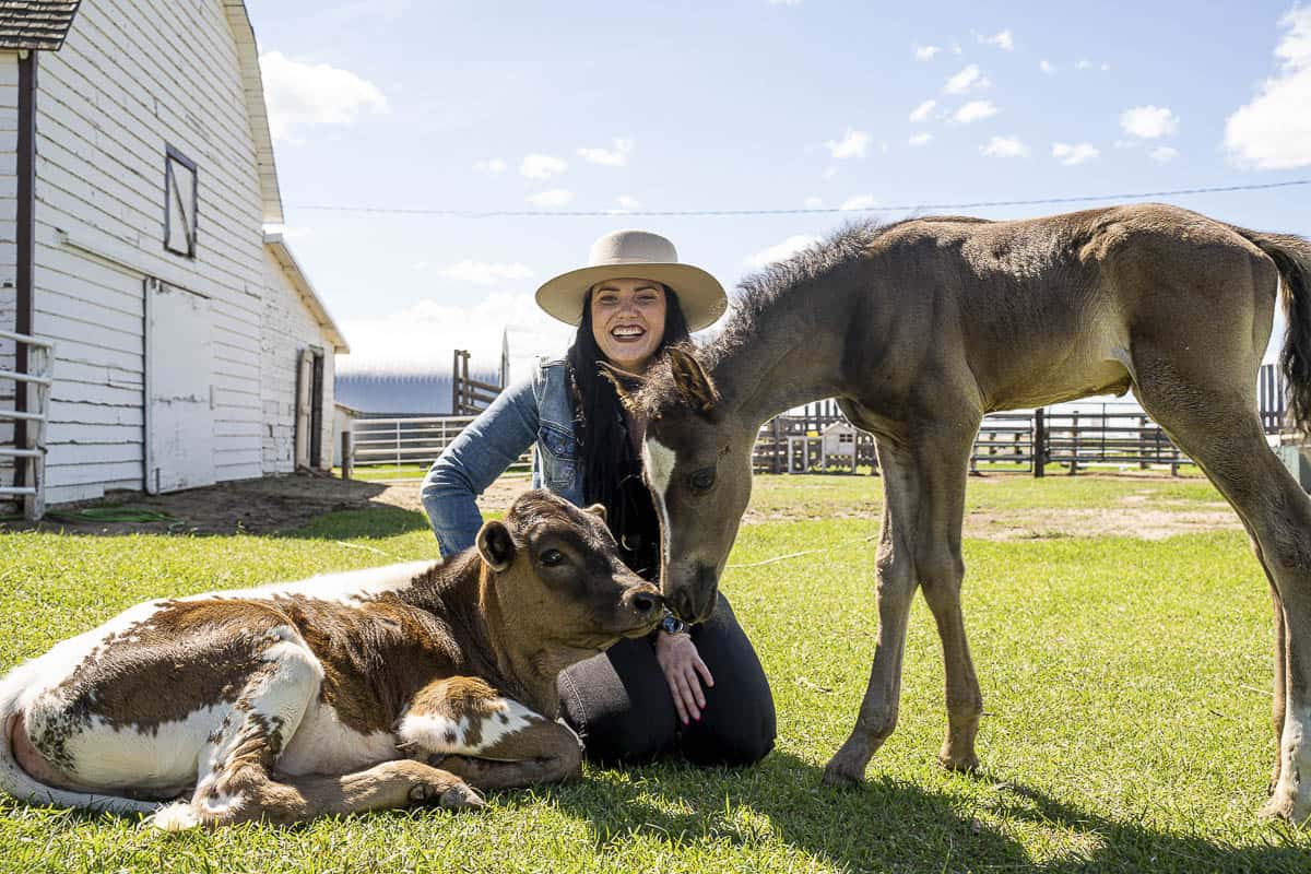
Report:
M628 410L646 421L642 468L661 518L665 601L703 621L751 497L756 428L725 409L690 349L671 346L644 376L611 376Z

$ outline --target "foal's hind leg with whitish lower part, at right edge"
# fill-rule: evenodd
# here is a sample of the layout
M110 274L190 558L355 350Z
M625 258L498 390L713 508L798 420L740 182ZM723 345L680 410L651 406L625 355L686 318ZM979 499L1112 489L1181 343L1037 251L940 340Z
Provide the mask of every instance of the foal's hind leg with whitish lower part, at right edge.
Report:
M1282 712L1282 725L1274 793L1262 814L1298 822L1311 815L1311 499L1266 446L1251 394L1247 387L1139 375L1143 406L1243 518L1273 583L1276 646L1282 643L1274 715Z

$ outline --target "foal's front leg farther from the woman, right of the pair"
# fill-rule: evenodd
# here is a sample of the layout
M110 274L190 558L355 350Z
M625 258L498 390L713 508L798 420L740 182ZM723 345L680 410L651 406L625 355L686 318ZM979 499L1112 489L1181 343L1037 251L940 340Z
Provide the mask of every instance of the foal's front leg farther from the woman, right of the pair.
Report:
M974 770L974 735L983 694L974 674L961 615L961 522L965 478L978 422L935 428L916 443L922 497L915 528L915 573L937 624L947 672L947 738L939 761L950 770Z

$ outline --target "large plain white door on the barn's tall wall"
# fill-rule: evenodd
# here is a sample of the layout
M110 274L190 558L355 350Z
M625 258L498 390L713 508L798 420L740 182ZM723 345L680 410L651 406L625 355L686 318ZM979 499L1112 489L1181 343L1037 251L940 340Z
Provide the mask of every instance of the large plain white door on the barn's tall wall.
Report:
M210 299L146 280L146 491L212 485Z

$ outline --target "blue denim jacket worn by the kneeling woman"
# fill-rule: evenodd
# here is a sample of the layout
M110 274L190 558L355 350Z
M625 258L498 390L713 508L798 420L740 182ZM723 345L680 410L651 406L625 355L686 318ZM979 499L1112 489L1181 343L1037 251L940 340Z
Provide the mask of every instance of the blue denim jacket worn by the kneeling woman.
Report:
M501 392L446 447L420 491L442 556L473 545L482 525L475 498L534 443L532 487L582 504L573 419L569 368L562 359L547 360L531 380Z

